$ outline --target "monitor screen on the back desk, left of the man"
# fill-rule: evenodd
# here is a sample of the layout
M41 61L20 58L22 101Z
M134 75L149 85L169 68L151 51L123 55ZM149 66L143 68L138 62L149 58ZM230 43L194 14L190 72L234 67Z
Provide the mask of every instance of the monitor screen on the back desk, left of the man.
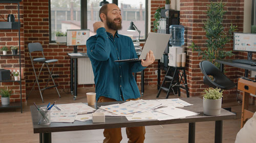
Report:
M90 30L67 30L67 46L86 45Z

